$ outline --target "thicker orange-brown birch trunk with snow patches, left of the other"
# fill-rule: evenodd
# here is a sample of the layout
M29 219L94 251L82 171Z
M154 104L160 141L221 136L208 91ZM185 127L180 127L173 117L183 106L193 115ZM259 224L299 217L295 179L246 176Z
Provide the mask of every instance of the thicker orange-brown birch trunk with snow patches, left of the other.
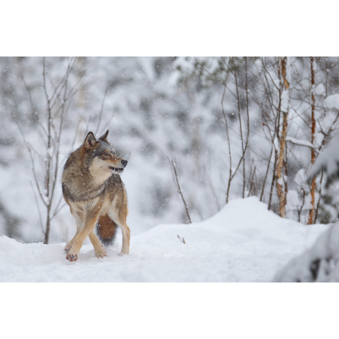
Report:
M283 177L282 177L282 166L284 163L284 156L285 156L285 146L286 146L286 136L287 136L287 118L288 118L288 102L289 102L289 92L288 88L290 84L286 80L286 60L287 57L281 57L281 76L282 76L282 94L281 94L281 101L282 105L280 107L281 112L283 114L282 120L282 130L280 136L280 147L279 147L279 156L278 156L278 164L276 168L276 186L277 186L277 194L279 198L279 214L282 218L286 215L286 194L285 185ZM279 69L280 72L280 69Z

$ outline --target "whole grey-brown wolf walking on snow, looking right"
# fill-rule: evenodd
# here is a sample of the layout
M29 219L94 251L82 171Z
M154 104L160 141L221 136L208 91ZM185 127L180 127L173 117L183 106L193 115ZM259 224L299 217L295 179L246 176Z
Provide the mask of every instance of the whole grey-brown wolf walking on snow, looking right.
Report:
M84 143L66 161L62 174L62 193L77 223L75 236L66 244L66 259L79 258L86 237L91 240L95 255L107 256L102 243L114 241L116 228L122 230L119 255L129 253L129 228L126 224L127 195L118 173L127 160L116 156L107 141L108 131L98 140L89 132Z

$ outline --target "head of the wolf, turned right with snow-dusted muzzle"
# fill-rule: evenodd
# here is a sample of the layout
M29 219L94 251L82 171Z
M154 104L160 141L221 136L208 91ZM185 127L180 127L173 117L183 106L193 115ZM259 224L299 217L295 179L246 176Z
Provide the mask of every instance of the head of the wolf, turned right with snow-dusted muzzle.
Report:
M94 177L107 176L113 173L121 173L127 165L127 160L118 157L111 144L107 141L108 131L98 140L89 132L83 143L88 155L88 169Z

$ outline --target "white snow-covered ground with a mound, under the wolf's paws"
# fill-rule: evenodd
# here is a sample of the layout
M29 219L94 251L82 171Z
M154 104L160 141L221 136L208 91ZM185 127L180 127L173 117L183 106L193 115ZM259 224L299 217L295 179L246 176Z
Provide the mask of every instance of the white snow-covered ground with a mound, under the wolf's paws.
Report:
M2 236L0 281L269 282L328 228L282 219L256 197L233 200L203 222L158 225L137 235L129 227L129 255L118 256L118 237L107 257L96 258L89 243L76 262L65 259L65 243L26 244Z

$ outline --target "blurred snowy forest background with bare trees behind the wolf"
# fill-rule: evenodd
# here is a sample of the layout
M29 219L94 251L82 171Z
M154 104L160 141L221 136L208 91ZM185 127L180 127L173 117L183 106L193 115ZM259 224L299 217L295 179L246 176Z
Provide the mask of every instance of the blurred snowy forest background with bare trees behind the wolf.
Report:
M0 58L0 234L75 229L62 167L88 131L128 160L133 234L257 196L302 223L338 218L338 182L308 179L339 118L337 57ZM29 220L29 223L27 221ZM47 228L50 231L47 232Z

